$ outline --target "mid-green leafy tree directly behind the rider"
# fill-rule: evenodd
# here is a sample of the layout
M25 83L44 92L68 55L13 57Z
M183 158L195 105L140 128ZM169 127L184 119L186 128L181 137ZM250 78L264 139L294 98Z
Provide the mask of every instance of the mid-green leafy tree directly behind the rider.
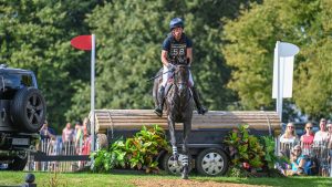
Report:
M248 1L114 1L97 7L89 14L96 34L96 107L153 108L152 82L146 82L162 67L162 43L169 33L174 17L185 19L185 32L194 41L193 73L196 85L209 110L226 110L236 94L225 87L230 69L219 51L222 18L236 18ZM245 6L248 6L245 3ZM82 95L89 102L89 83L75 95L72 111Z

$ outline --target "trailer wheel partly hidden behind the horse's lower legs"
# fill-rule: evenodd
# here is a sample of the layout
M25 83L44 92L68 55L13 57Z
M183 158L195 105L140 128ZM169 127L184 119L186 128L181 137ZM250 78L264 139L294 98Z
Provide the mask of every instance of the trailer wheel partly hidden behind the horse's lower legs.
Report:
M183 154L178 155L178 162L174 163L174 157L172 154L166 154L163 158L163 168L172 175L180 175L183 169ZM191 170L191 156L189 156L189 173Z

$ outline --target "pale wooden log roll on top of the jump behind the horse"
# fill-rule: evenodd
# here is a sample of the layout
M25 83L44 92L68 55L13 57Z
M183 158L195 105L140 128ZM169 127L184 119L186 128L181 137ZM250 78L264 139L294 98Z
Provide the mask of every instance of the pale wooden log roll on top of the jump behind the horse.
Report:
M259 131L280 131L280 118L277 112L267 111L209 111L206 115L194 112L193 129L234 128L248 124ZM95 110L95 133L112 129L141 129L143 125L158 125L168 129L167 120L156 116L152 110ZM176 124L181 129L181 124Z

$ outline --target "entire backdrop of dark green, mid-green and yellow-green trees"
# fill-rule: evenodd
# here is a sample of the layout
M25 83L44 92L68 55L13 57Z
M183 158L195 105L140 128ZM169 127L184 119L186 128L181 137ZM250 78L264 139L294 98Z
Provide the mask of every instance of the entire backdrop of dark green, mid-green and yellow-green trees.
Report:
M51 124L83 118L90 111L90 53L70 40L94 33L96 108L153 108L146 80L162 67L169 20L181 17L194 41L194 80L209 110L273 110L279 40L301 49L287 103L326 116L331 12L329 0L0 0L0 63L37 73Z

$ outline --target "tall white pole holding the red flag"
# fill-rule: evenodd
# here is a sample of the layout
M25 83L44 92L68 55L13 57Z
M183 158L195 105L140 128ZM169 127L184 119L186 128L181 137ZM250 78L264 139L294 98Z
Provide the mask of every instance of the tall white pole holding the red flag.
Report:
M95 34L91 35L91 152L95 150L95 115L94 115L94 79L95 79ZM91 166L93 167L94 159L91 157Z

